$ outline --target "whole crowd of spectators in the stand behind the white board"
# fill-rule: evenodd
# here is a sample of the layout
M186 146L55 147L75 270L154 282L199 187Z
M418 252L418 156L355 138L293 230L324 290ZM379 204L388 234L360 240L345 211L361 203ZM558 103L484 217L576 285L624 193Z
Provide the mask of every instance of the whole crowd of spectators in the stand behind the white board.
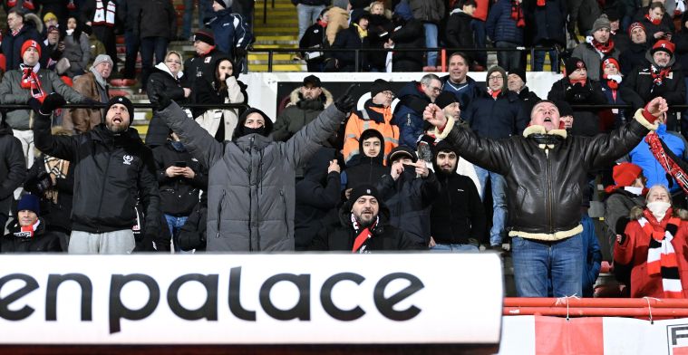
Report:
M201 1L202 28L191 34L190 11L177 35L168 0L8 3L0 103L31 110L5 110L0 125L2 253L488 249L511 253L520 296L591 296L603 258L631 296L688 295L681 10L296 0L309 72L420 73L400 90L373 79L366 100L310 74L271 118L247 108L238 80L251 5ZM187 36L193 56L168 50ZM556 47L564 74L547 100L528 89L522 52L488 68L472 51L488 39ZM442 76L435 52L318 52L435 47L467 52ZM139 52L155 106L145 140L109 85L136 75ZM547 51L534 54L542 70ZM602 232L588 209L599 199Z

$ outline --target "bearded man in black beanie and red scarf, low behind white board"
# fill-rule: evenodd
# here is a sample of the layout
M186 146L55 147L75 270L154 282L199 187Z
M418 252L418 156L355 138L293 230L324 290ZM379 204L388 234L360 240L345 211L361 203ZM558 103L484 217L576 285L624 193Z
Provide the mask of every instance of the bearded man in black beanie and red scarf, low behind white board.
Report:
M313 240L311 250L340 250L370 254L383 250L415 250L415 244L401 229L389 224L390 211L372 185L354 187L351 198L339 210L342 224L324 229Z

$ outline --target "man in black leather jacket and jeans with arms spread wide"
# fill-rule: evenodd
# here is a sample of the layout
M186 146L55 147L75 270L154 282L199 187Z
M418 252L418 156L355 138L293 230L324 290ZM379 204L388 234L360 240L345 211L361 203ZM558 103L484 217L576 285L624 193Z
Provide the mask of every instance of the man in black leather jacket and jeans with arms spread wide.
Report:
M562 297L582 292L580 206L587 172L613 164L633 149L667 109L664 99L654 99L635 112L635 120L592 138L567 136L551 101L538 102L523 135L509 139L480 139L454 126L434 104L423 118L437 128L437 138L447 139L462 157L506 178L518 296L547 297L549 283L554 296Z

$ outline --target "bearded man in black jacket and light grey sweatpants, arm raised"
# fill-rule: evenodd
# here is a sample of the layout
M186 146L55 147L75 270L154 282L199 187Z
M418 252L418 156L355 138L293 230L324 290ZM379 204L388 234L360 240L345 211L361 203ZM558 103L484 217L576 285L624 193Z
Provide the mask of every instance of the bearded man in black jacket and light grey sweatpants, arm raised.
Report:
M74 164L74 200L70 254L130 254L135 240L137 199L144 206L145 237L160 230L160 194L155 163L139 133L130 127L134 113L129 99L115 96L105 108L105 123L76 136L53 136L50 115L64 104L59 94L36 112L36 148Z

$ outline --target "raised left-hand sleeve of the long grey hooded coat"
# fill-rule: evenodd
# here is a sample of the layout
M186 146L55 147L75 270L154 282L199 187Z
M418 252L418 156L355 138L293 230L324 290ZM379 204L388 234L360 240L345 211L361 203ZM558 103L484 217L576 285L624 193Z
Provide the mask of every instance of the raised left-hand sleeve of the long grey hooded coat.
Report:
M203 130L195 120L189 119L177 102L172 101L165 110L158 111L158 115L171 130L177 133L191 156L199 159L204 167L209 169L215 161L222 158L222 143L210 136L208 131Z

